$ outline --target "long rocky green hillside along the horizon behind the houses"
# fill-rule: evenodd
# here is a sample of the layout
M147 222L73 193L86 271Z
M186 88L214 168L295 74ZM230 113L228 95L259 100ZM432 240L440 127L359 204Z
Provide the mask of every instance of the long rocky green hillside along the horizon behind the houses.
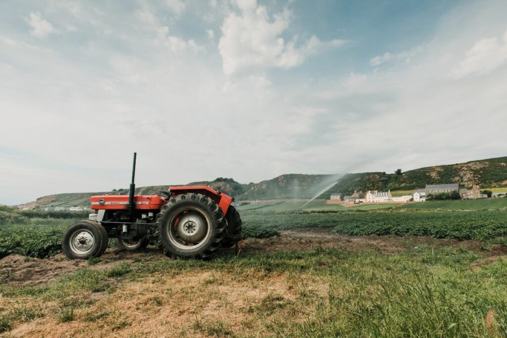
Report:
M187 185L209 185L215 190L236 197L252 199L306 199L318 194L324 187L337 180L337 175L284 174L259 183L241 184L232 178L219 177L213 181L191 182ZM331 193L350 194L354 190L414 190L425 184L460 183L462 186L481 184L485 187L507 187L507 157L470 161L409 170L401 175L385 172L349 173L321 197ZM173 185L174 186L174 185ZM169 185L136 188L136 194L151 195L168 190ZM127 189L111 192L69 193L40 197L31 205L40 206L86 206L92 195L126 195Z

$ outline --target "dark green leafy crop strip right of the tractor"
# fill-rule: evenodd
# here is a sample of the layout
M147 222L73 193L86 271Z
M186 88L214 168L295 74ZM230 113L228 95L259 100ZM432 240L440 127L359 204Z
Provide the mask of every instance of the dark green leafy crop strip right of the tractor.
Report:
M414 235L489 240L507 236L507 210L244 212L243 229L334 228L346 235Z

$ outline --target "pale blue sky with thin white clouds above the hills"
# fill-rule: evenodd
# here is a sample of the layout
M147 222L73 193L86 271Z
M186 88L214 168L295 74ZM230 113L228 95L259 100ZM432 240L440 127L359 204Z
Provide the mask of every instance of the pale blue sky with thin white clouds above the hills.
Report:
M506 156L507 2L0 2L0 203Z

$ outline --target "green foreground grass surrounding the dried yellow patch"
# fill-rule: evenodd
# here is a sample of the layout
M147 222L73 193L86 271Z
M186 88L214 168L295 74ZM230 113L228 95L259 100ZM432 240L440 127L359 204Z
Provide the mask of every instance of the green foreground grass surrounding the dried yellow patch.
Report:
M74 299L76 307L91 307L89 313L95 313L93 302L88 303L88 292L97 283L122 285L154 274L172 278L182 273L208 271L211 275L232 276L235 284L248 284L252 272L256 276L252 282L269 281L282 274L285 277L281 283L296 290L297 296L288 298L272 292L259 303L247 299L246 306L238 311L256 323L255 326L232 325L227 316L212 321L196 315L182 330L187 336L195 331L212 336L255 336L264 330L269 336L287 337L482 337L488 336L484 317L495 309L498 329L492 336L505 336L502 332L507 329L507 261L500 259L480 269L471 269L479 259L480 255L466 249L431 247L393 254L317 248L206 262L160 259L132 265L120 280L110 270L83 268L49 287L0 285L0 294L41 304L49 299L60 299L60 304ZM322 285L320 292L309 287L308 278ZM28 289L31 291L27 292ZM214 293L208 297L202 302L221 299ZM70 306L63 309L57 312L60 322L76 320ZM20 308L16 316L10 309L0 311L0 318L9 316L3 324L4 330L40 316L37 308L26 311ZM198 314L199 310L196 311ZM103 327L112 323L110 317L110 313L102 310L93 317L85 316L83 325L94 322ZM116 329L121 327L125 325Z

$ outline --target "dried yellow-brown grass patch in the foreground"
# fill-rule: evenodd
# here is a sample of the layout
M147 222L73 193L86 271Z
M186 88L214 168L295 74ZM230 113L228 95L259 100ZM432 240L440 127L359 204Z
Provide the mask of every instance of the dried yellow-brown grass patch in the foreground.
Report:
M41 318L17 322L9 336L264 336L270 321L304 321L311 311L307 299L325 290L322 281L308 276L255 269L241 275L221 270L156 273L123 281L99 298L85 291L74 306L46 302ZM79 308L84 299L93 303Z

